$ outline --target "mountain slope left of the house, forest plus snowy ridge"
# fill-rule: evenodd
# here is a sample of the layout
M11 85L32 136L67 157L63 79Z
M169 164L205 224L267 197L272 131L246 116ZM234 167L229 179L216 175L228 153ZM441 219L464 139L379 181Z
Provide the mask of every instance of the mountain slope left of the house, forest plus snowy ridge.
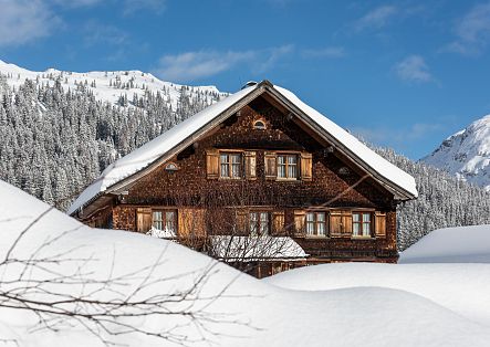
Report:
M139 71L0 62L0 179L65 209L101 171L226 94Z

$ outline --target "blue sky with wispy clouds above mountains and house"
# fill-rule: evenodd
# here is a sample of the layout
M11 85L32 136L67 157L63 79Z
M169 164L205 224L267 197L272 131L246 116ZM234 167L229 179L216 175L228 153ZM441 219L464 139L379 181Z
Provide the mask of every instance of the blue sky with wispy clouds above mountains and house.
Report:
M490 1L0 0L0 60L268 78L413 159L490 113L489 45Z

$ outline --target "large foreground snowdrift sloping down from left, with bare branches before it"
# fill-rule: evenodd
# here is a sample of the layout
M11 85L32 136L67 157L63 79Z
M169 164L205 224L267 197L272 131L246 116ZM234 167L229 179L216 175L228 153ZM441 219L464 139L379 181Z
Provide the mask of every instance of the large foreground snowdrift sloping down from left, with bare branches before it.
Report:
M0 200L0 257L3 257L20 230L46 211L48 206L1 181L0 194L4 197ZM152 267L160 256L163 262L155 266L148 280L174 280L158 283L148 288L147 294L173 293L188 286L196 271L213 263L209 257L169 241L124 231L91 229L56 210L34 223L19 243L15 254L32 255L40 243L67 230L69 233L46 248L42 255L72 250L69 253L72 257L90 257L90 261L81 261L82 264L52 264L56 272L66 274L83 265L87 281L82 286L66 285L64 290L70 293L77 293L84 286L90 287L90 281L94 278ZM202 332L194 325L176 327L183 324L183 319L177 316L138 317L128 323L157 332L176 327L174 332L189 339L205 334L216 346L325 346L325 341L329 341L329 346L376 347L488 345L490 332L487 327L413 293L378 287L311 292L312 285L325 278L323 272L315 272L320 269L305 269L316 273L310 287L305 287L307 291L290 291L240 274L225 264L217 264L202 293L212 295L226 288L225 295L208 303L206 307L206 312L212 314L212 318L218 318L218 322L223 317L229 320L205 323L207 328L218 335ZM111 285L103 294L105 298L117 297L117 293L127 295L146 275L146 272L142 272L140 276L126 280L124 286ZM463 282L459 280L456 278L458 283ZM486 282L480 284L484 285ZM32 330L35 323L37 317L29 312L0 308L2 338L15 339L19 346L40 346L40 341L50 347L102 346L97 337L81 326L63 325L58 330ZM115 343L127 346L173 346L140 335L122 335L115 338ZM209 346L209 343L189 345Z

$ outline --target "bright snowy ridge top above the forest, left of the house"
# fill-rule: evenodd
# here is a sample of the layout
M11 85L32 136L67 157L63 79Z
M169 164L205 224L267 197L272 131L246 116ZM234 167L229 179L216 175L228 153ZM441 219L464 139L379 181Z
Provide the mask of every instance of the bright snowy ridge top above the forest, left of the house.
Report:
M177 102L180 95L181 85L171 82L164 82L142 71L113 71L113 72L67 72L55 69L48 69L44 72L29 71L14 64L9 64L0 60L0 74L7 77L7 83L12 87L19 87L27 78L39 81L40 84L49 83L53 85L56 80L61 82L62 87L67 91L75 91L79 85L85 85L93 92L98 101L105 101L113 105L119 104L123 96L127 96L129 103L136 94L143 96L146 91L159 92L173 109L177 108ZM189 87L190 94L202 93L211 103L216 95L225 96L215 86ZM129 104L128 103L128 104Z

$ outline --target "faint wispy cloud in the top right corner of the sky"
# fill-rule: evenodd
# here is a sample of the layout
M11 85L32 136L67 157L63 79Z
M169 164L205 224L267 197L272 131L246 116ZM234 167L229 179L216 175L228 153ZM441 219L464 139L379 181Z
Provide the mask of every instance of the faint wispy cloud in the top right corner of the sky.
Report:
M456 27L457 39L445 50L467 55L479 53L490 41L490 2L471 8Z

